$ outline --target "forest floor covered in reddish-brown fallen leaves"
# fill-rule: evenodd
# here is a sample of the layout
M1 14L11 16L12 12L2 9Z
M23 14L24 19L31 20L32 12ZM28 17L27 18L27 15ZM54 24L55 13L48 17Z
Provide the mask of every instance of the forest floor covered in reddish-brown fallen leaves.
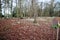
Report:
M40 17L37 23L31 19L0 19L0 40L56 40L54 18Z

